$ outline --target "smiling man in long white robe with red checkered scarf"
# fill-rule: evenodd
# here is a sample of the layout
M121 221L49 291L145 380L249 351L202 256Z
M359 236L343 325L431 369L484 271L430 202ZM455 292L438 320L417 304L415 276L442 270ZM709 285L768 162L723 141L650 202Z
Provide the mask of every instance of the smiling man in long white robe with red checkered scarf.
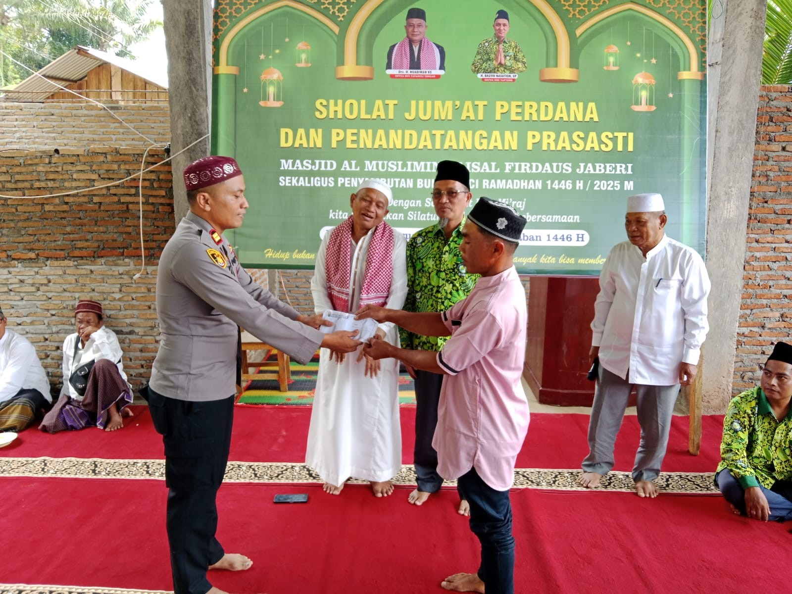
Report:
M404 304L406 240L383 221L392 197L384 181L364 180L350 196L352 216L325 234L311 280L317 314ZM398 346L394 324L380 324L377 334ZM371 482L376 497L393 492L390 478L402 467L398 365L372 360L362 348L348 356L321 349L306 464L322 477L326 492L341 493L348 478Z

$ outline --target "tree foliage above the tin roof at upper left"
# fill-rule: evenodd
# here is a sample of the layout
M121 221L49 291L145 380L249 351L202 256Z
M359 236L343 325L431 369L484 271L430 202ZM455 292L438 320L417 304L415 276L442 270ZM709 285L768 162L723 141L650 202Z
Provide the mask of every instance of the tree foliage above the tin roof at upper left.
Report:
M134 57L129 47L162 23L147 19L156 0L0 0L0 50L39 70L75 45ZM29 76L0 54L0 88Z

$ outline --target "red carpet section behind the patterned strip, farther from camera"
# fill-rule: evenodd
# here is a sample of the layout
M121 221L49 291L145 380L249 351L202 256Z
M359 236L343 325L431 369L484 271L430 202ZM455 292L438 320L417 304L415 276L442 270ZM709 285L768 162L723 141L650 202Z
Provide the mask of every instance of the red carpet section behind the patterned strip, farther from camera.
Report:
M86 428L55 435L28 429L0 449L0 456L106 459L162 459L162 438L154 431L145 406L135 406L135 417L116 432ZM402 462L413 461L415 409L402 407ZM230 459L240 462L302 462L310 408L295 406L238 406L234 410L234 439ZM703 418L699 456L687 453L687 417L674 417L663 470L713 472L720 459L723 417ZM588 452L588 415L537 413L531 417L527 440L517 459L518 468L578 468ZM630 470L638 448L637 418L625 417L616 442L615 470Z

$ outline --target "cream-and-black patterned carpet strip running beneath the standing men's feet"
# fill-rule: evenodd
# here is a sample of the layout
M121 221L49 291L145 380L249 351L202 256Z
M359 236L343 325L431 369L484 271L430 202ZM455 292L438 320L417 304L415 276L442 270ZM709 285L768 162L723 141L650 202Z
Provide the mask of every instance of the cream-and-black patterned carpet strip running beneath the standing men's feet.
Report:
M517 468L516 489L550 489L561 491L634 491L629 472L611 471L599 489L584 489L577 484L580 470L545 468ZM8 477L55 478L165 478L164 460L121 460L100 458L0 458L0 475ZM657 486L664 493L720 495L713 483L711 472L664 472ZM229 462L226 482L256 483L321 483L318 474L303 463ZM360 483L352 479L350 483ZM412 465L402 465L402 470L392 481L394 485L415 485ZM454 481L445 485L452 486ZM0 592L3 594L3 592Z

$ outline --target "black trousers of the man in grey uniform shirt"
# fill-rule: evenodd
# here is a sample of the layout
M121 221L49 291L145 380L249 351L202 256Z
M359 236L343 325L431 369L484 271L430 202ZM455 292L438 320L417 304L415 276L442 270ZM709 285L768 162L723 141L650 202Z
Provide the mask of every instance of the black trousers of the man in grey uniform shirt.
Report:
M148 388L154 428L165 444L166 527L175 594L205 594L209 565L223 558L217 490L223 482L234 421L234 397L210 402L166 398Z

